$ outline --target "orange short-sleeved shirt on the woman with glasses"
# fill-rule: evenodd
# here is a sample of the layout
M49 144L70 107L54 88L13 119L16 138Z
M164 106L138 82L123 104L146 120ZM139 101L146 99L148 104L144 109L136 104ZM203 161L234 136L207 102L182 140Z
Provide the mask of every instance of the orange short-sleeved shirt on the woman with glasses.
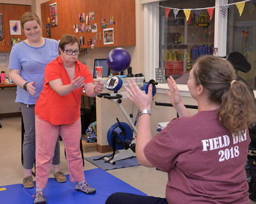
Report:
M85 82L93 83L90 70L83 63L76 61L76 77L82 76ZM61 56L47 64L44 73L44 90L36 101L35 114L53 125L72 124L80 117L81 95L83 88L75 89L65 96L60 96L49 84L52 80L60 78L63 85L71 80L63 66Z

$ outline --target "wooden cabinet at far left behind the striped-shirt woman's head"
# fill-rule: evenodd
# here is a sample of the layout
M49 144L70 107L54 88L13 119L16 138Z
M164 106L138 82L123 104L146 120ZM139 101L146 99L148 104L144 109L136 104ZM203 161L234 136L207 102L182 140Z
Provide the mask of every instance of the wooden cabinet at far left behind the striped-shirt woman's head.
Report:
M31 6L17 4L0 4L0 13L3 14L4 40L0 41L0 51L12 50L12 38L20 38L24 40L26 36L24 32L20 35L11 35L10 20L20 20L23 13L31 11Z

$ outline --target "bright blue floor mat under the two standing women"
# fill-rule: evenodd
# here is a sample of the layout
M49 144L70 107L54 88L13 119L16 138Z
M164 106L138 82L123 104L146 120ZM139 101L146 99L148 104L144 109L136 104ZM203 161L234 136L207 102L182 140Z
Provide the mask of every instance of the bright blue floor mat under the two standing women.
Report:
M70 182L69 175L67 175L67 182L62 184L51 178L48 180L47 186L44 189L47 204L104 204L108 196L115 192L134 193L147 196L147 194L135 189L100 168L84 171L84 175L86 182L97 190L95 194L88 195L80 191L76 191L76 182ZM4 188L6 190L4 190ZM36 187L33 187L32 189L25 189L22 184L1 186L0 203L32 204L34 202L32 195L35 194L35 191Z

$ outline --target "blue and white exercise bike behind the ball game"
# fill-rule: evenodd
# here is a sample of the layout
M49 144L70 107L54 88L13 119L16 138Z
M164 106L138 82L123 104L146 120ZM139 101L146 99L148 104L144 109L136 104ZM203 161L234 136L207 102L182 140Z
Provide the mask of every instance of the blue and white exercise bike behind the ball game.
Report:
M148 85L152 84L152 96L156 94L156 85L158 84L154 80L150 80L149 82L146 82L142 87L141 90L145 91L145 93L148 93ZM122 106L122 99L127 98L125 95L125 92L118 91L122 88L123 80L121 77L113 76L110 77L106 82L106 89L109 91L113 91L113 93L101 93L98 94L97 97L99 98L106 98L111 100L113 103L116 103L122 113L124 113L125 118L127 119L127 123L120 122L118 118L116 118L117 122L113 124L108 130L108 143L113 149L113 154L110 156L102 156L99 159L93 159L93 160L100 160L104 159L105 163L110 163L115 165L116 161L119 161L121 159L127 159L129 157L136 157L135 152L135 143L136 143L136 135L137 135L137 129L136 129L136 122L138 121L138 113L135 119L135 122L133 123L131 120L132 114L130 116L125 112L124 107ZM127 92L126 92L127 93ZM116 150L118 152L116 153Z

